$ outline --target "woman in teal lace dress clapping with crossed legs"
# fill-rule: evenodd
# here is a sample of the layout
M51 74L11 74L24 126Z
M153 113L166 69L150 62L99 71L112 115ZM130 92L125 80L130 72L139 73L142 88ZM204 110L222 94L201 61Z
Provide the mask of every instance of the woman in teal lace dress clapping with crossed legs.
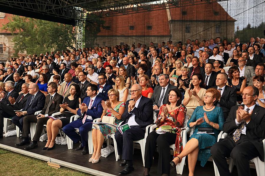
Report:
M198 106L188 121L188 127L195 126L195 130L190 140L186 143L183 151L170 162L172 166L179 163L181 159L188 155L189 176L194 175L194 169L197 160L201 161L201 166L211 156L210 147L217 142L219 131L223 130L223 111L220 107L214 106L214 103L220 99L221 94L217 89L210 88L204 95L204 106ZM198 128L213 128L214 134L197 134Z

